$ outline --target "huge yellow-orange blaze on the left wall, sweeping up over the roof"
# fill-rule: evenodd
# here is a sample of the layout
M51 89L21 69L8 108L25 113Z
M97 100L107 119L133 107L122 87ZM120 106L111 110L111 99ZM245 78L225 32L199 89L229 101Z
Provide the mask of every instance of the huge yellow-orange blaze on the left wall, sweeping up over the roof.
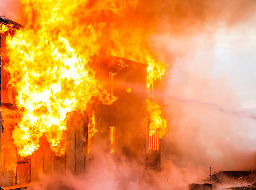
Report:
M147 22L136 13L138 0L20 3L28 23L7 37L10 62L5 70L17 92L14 102L23 112L13 130L21 156L38 149L43 134L56 155L63 155L69 114L86 110L95 100L112 104L117 99L90 68L93 56L104 53L148 64L148 90L164 74L164 64L155 61L148 47L147 35L154 27L141 26ZM1 25L1 30L6 29ZM88 140L96 132L93 118Z

